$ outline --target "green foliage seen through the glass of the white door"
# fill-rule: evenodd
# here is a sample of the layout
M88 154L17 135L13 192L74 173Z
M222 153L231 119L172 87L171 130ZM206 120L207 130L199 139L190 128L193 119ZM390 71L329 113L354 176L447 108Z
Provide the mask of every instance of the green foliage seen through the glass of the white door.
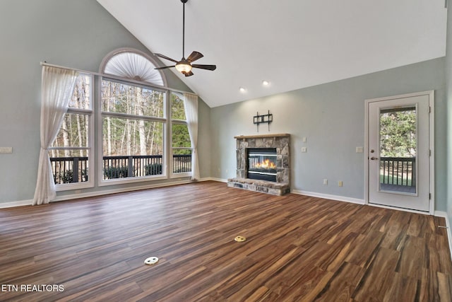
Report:
M381 113L380 144L383 157L416 156L416 111Z

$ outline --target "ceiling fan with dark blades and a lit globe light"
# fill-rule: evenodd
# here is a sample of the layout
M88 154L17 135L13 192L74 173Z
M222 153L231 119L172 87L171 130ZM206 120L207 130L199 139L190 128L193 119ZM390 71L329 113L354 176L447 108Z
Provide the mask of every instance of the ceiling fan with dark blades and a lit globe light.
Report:
M165 56L164 54L155 54L157 57L161 57L162 59L167 59L171 62L176 63L172 66L162 66L157 67L155 69L166 69L171 67L176 67L177 71L182 72L185 76L193 76L193 72L191 71L192 68L198 68L198 69L206 69L206 70L215 70L217 69L216 65L203 65L203 64L191 64L195 62L197 59L201 59L203 54L201 52L191 52L188 58L185 59L185 4L189 0L181 0L183 4L183 19L182 19L182 59L180 61L177 61L175 59L171 59L170 57Z

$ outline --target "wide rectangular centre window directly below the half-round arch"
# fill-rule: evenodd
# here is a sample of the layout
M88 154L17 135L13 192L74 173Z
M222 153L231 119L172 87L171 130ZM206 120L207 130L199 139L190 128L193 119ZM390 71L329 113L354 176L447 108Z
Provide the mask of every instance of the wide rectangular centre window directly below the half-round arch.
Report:
M165 95L102 79L102 180L166 174Z

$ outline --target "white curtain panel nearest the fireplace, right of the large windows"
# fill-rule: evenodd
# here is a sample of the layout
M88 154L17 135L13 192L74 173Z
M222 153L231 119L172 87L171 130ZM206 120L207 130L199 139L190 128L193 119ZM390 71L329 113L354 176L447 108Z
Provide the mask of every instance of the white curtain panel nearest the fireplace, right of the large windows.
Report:
M186 122L189 127L189 134L193 148L191 154L191 180L199 180L198 163L198 95L184 93L184 106Z

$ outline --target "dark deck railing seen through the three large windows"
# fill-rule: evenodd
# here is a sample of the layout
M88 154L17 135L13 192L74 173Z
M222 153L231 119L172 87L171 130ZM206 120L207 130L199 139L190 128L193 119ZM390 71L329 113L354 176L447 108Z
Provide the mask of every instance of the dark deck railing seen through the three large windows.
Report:
M131 178L163 174L161 155L104 156L104 179ZM88 181L88 157L51 157L55 184ZM191 171L191 154L172 156L173 173ZM76 171L76 173L74 173Z

